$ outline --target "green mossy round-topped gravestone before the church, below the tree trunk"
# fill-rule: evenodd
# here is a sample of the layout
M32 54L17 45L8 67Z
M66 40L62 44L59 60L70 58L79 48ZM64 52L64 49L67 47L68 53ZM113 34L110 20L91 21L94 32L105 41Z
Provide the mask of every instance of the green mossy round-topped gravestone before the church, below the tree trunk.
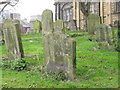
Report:
M96 27L100 24L100 17L96 14L91 14L87 18L88 33L93 35Z

